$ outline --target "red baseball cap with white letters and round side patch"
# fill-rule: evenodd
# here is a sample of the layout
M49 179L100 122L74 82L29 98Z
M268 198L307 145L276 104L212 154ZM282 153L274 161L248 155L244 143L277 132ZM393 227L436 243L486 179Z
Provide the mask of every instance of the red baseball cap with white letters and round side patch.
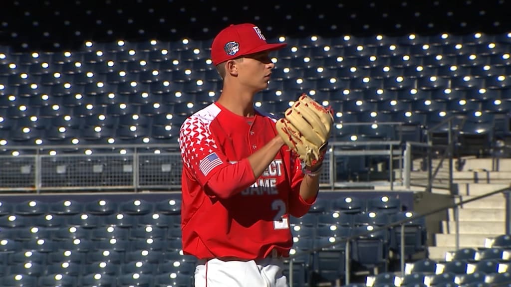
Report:
M251 23L230 25L213 39L211 60L216 66L230 59L262 51L278 50L286 45L286 43L267 43L261 30Z

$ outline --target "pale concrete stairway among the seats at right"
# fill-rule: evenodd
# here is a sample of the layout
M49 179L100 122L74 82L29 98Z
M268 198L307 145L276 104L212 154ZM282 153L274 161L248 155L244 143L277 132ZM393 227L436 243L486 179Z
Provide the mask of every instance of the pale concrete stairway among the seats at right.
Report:
M483 175L483 176L482 176ZM466 201L509 186L511 182L511 159L464 159L463 168L454 173L459 197L456 202ZM442 193L442 189L434 192ZM462 205L459 208L459 248L484 247L485 239L505 233L505 201L502 194ZM441 223L442 233L435 234L433 246L428 248L429 258L445 259L447 252L456 247L456 224L454 210L450 209L447 220Z

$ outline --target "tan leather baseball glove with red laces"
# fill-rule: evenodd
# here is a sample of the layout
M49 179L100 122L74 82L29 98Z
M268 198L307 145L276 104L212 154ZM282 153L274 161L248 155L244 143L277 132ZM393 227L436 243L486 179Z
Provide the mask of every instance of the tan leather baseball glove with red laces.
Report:
M286 145L306 165L306 169L314 170L324 159L333 122L332 109L302 94L286 110L285 117L277 121L276 129Z

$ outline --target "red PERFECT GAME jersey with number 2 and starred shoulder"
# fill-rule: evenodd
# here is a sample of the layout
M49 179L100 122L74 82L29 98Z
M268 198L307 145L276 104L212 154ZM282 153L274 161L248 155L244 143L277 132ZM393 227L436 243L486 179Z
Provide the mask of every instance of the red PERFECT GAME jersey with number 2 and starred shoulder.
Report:
M179 146L185 254L256 259L276 249L289 255L289 214L303 216L315 200L299 195L300 160L283 146L256 179L247 159L275 137L275 121L260 112L243 117L218 103L184 121Z

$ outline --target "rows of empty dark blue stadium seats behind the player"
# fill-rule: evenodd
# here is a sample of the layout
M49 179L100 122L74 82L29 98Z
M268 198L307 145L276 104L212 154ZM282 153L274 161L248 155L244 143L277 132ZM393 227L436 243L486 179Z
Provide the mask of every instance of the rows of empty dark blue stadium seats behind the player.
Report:
M423 141L424 130L452 115L464 117L456 126L459 153L497 154L495 141L511 134L511 27L503 0L315 2L301 10L291 2L2 5L3 190L35 177L36 163L25 157L34 154L43 155L42 188L71 191L101 182L122 189L133 182L134 164L137 184L178 187L179 160L159 154L167 148L129 145L177 143L183 119L218 98L221 81L209 49L230 22L256 22L268 38L289 43L274 53L272 80L255 105L280 114L308 93L333 107L333 142ZM139 162L135 149L144 153ZM363 177L374 168L368 165L381 162L378 156L335 160L337 181ZM354 287L511 281L508 234L489 238L485 248L430 259L425 222L407 221L416 215L412 193L323 195L306 216L290 220L292 254L303 254L292 258L293 286L342 284L346 265L368 274ZM180 252L178 195L145 196L0 201L0 285L192 286L195 261ZM398 221L405 221L404 242L401 227L367 234ZM367 235L350 250L332 245L356 234ZM419 253L425 258L414 258Z

